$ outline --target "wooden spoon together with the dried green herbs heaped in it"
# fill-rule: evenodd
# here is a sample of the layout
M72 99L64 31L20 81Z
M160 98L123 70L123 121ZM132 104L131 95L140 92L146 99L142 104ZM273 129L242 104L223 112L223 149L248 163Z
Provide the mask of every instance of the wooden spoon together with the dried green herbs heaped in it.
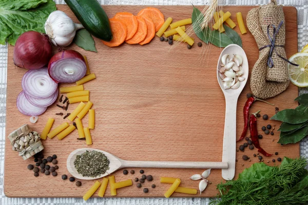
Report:
M202 161L128 161L98 149L74 150L67 158L67 170L78 179L98 179L122 168L227 169L226 162Z

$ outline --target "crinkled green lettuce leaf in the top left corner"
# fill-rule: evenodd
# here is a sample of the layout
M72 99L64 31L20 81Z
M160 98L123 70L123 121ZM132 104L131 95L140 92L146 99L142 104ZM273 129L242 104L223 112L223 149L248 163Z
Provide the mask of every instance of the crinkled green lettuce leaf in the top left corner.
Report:
M45 33L44 25L52 11L52 0L2 0L0 1L0 44L15 45L26 31Z

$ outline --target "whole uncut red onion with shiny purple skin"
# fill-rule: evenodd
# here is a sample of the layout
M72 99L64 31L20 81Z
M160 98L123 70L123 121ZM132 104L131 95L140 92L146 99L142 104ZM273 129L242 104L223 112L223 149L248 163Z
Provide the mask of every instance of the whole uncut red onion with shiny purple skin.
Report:
M38 69L48 64L52 56L52 46L48 35L27 31L17 38L13 60L21 68Z

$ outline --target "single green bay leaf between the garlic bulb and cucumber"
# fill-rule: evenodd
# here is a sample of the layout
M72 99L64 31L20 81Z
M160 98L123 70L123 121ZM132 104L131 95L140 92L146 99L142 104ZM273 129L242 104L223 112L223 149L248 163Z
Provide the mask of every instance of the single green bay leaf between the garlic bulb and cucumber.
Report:
M86 29L80 29L76 32L73 42L86 51L98 52L95 48L93 37Z

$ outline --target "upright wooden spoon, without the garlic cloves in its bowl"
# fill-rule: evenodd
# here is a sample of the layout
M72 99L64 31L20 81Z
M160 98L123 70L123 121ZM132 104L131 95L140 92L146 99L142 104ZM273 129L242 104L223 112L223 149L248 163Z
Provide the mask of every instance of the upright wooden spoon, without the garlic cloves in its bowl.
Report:
M242 68L244 74L242 77L245 77L244 81L241 81L240 87L238 89L227 89L223 88L223 81L219 76L219 70L221 68L221 58L224 54L238 54L243 58ZM225 114L225 126L223 134L223 150L222 150L222 162L228 163L228 169L222 170L222 178L225 180L231 180L235 175L235 158L236 158L236 106L237 100L240 93L242 92L244 86L246 85L248 78L248 60L244 50L236 45L230 44L221 52L218 65L217 65L217 79L220 85L220 88L225 96L226 100L226 114Z

